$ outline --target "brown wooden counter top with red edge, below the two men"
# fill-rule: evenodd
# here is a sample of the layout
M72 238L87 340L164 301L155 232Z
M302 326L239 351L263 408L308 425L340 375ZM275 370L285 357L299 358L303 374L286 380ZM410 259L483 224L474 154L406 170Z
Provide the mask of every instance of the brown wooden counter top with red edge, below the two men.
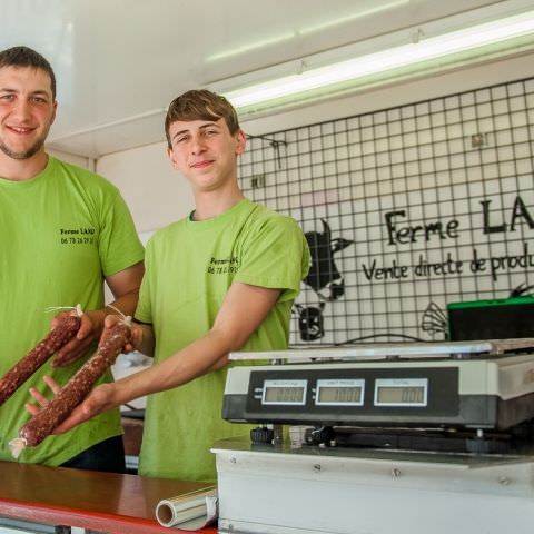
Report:
M120 534L186 532L161 526L156 505L209 485L16 462L0 462L0 515Z

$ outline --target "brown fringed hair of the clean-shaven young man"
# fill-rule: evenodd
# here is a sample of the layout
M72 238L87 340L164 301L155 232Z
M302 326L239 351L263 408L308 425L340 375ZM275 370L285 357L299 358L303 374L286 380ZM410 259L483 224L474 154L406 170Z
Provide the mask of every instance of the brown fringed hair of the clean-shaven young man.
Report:
M233 136L238 132L237 112L225 97L207 89L191 90L180 95L170 102L165 118L165 135L169 148L172 146L169 136L169 128L172 122L177 120L217 121L220 118L225 119Z

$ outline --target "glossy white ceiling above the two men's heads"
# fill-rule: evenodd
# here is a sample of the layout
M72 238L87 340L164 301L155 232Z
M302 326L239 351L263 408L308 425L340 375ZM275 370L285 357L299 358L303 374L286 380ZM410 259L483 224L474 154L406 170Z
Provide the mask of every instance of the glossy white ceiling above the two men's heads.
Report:
M482 0L0 0L0 47L58 77L50 146L88 157L165 138L180 92L484 4Z

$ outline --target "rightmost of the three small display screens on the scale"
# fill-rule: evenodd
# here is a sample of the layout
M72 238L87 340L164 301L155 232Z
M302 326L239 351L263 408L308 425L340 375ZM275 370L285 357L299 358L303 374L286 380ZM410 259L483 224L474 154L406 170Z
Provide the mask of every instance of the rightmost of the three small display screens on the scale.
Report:
M375 406L426 406L427 378L378 378L375 380Z

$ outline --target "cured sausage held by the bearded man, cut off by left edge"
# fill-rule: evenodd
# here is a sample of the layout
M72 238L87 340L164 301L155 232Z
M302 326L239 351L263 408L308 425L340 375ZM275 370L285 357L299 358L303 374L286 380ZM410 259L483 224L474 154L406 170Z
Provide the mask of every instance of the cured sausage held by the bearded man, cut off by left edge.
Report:
M57 350L75 337L80 318L67 315L47 337L39 342L22 359L17 362L0 379L0 406Z

